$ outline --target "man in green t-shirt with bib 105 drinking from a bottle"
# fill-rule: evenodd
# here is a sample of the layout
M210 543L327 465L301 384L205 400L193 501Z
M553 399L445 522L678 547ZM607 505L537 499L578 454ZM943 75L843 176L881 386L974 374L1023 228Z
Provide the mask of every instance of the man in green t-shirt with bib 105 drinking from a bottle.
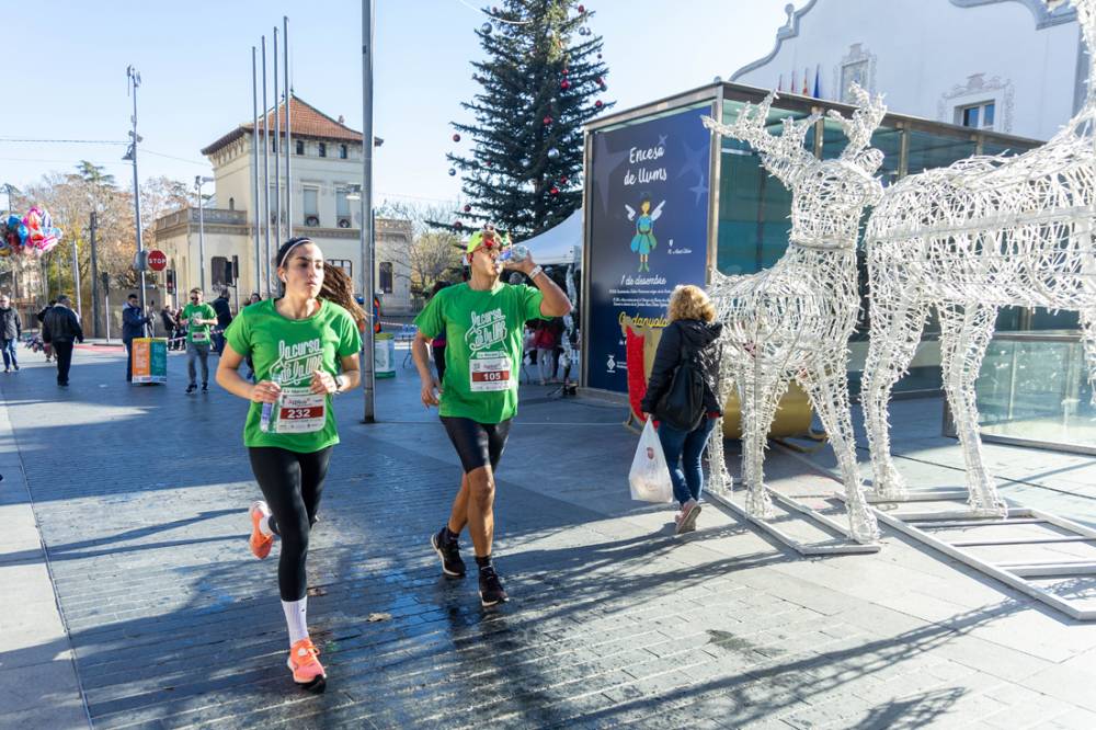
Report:
M494 537L494 472L506 446L510 422L517 412L522 365L522 332L526 320L562 317L571 311L567 295L532 256L510 264L535 286L500 281L503 246L509 243L490 225L468 241L470 281L438 292L415 318L419 331L411 345L422 380L422 402L438 406L460 457L464 477L448 523L431 536L442 572L465 574L457 537L468 525L479 567L480 603L506 601L491 564ZM509 262L507 262L509 263ZM445 333L445 376L438 384L430 369L431 340Z

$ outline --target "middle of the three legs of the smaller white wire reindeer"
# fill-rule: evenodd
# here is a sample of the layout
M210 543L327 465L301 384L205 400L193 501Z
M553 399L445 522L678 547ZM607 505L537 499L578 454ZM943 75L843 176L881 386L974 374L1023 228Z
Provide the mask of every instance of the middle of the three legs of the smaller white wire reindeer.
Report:
M788 378L777 375L742 374L739 397L742 401L742 479L746 492L746 512L758 520L772 520L773 501L765 493L765 447L780 397Z

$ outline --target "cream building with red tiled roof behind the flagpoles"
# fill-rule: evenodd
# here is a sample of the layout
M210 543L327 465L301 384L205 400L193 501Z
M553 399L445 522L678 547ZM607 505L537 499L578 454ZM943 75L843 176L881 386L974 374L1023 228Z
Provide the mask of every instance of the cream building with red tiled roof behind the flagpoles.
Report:
M214 167L213 205L206 205L199 216L189 207L162 216L156 221L156 248L168 256L168 270L162 275L174 284L175 296L192 287L203 287L209 296L221 288L236 289L241 299L267 290L266 262L279 246L278 231L285 237L287 216L284 201L292 203L292 225L295 236L312 238L323 250L329 264L342 267L355 283L361 271L361 207L355 194L362 185L362 133L333 119L297 96L290 100L293 135L292 179L286 191L285 107L279 106L277 121L281 137L274 137L275 117L267 118L271 130L267 162L269 201L264 199L263 147L264 132L258 135L250 122L220 137L202 150ZM252 149L259 148L259 195L254 201L255 178ZM279 156L275 178L274 158ZM275 184L281 180L281 185ZM282 225L273 213L281 193ZM269 209L260 216L255 247L254 210ZM269 228L269 231L267 231ZM390 313L411 310L411 224L406 220L375 220L374 288L381 309ZM270 235L270 252L266 237ZM204 251L203 251L204 250ZM204 266L202 259L204 255ZM204 280L203 280L204 270ZM276 277L270 281L276 285ZM165 281L167 283L167 281Z

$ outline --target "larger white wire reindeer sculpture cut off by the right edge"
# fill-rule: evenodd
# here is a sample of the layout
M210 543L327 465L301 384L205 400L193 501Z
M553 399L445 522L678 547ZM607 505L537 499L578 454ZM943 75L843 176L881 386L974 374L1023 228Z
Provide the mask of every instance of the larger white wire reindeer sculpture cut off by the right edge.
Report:
M1096 0L1074 4L1092 50ZM879 498L907 495L890 455L888 402L931 308L940 318L944 389L977 513L1007 513L982 459L974 393L997 310L1080 311L1089 381L1096 378L1094 92L1091 72L1084 106L1042 147L910 175L889 187L872 213L866 237L870 345L860 395Z

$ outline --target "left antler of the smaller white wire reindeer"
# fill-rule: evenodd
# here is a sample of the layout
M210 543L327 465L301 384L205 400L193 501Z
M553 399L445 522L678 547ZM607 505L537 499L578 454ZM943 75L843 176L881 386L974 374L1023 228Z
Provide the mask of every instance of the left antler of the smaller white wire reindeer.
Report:
M768 114L776 98L776 92L772 91L761 104L744 104L733 124L720 124L708 116L703 122L716 134L749 142L761 152L765 168L790 185L799 171L815 162L814 156L803 148L803 139L822 115L811 114L803 119L789 116L784 119L781 134L772 135Z

